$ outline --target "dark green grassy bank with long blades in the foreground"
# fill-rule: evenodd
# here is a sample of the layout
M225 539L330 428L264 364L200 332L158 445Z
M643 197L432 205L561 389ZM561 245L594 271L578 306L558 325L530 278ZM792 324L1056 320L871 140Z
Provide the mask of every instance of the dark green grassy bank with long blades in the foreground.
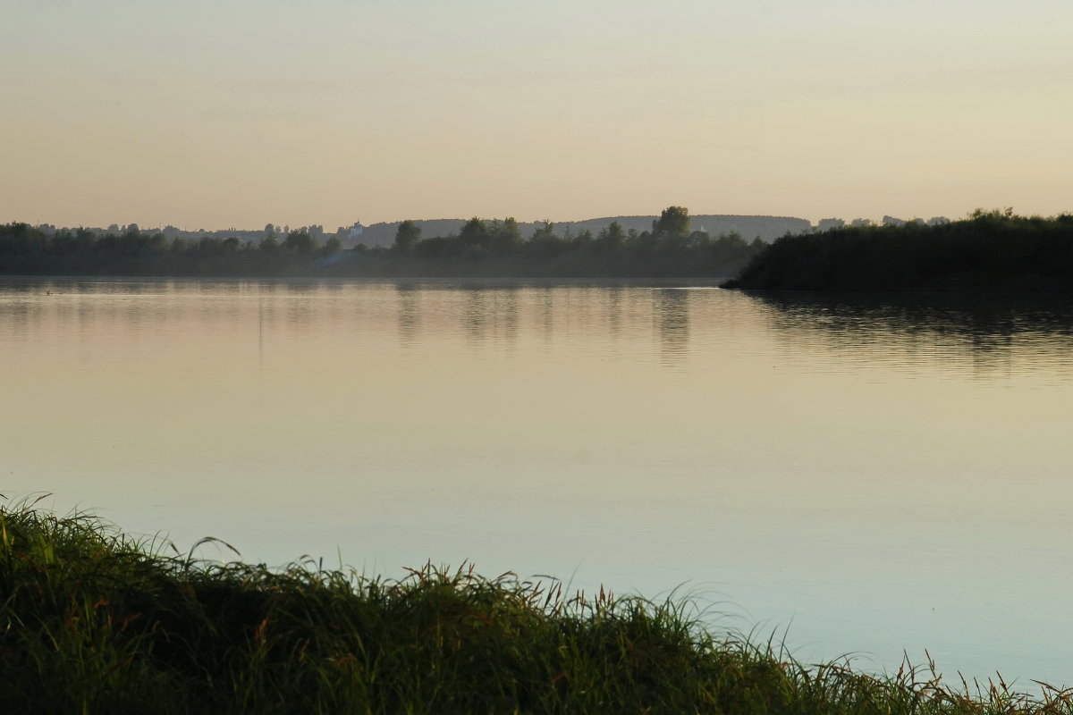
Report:
M805 666L688 602L426 566L210 563L0 507L3 713L1073 713L1073 696Z

